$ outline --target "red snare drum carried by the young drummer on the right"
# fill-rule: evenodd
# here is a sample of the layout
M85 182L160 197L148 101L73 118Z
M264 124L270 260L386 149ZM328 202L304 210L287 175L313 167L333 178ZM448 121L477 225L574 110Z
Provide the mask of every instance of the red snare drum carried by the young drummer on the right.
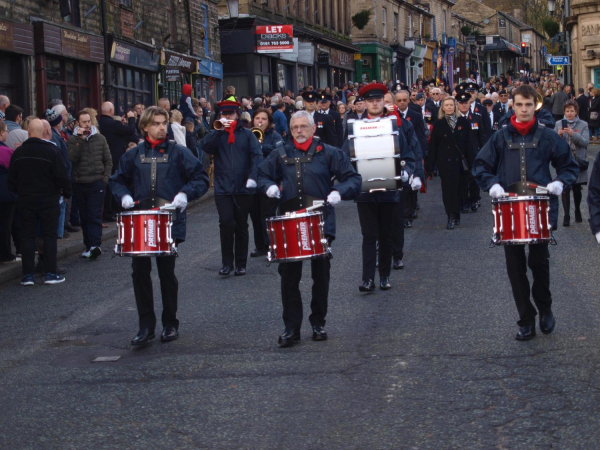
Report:
M496 245L540 244L552 241L550 198L515 196L492 200Z

